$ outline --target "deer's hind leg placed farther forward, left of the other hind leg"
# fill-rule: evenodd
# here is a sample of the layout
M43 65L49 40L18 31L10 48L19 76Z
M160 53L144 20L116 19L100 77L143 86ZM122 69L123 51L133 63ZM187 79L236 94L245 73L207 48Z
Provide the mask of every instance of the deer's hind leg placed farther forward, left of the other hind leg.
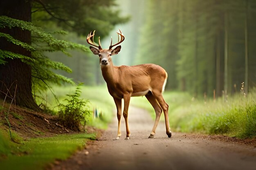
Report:
M159 106L157 99L155 98L155 96L152 93L148 93L147 95L145 95L145 97L148 99L148 102L153 106L153 108L155 110L155 124L150 133L150 136L148 137L148 138L153 138L155 135L155 131L157 129L157 125L158 125L161 113L162 113L162 108Z

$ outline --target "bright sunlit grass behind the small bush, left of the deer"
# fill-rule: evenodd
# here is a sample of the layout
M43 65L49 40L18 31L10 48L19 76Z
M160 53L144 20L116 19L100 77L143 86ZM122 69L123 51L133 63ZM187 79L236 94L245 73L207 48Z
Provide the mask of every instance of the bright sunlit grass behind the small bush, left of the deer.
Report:
M55 113L58 113L58 107L56 107L56 105L59 103L64 105L67 104L65 94L73 94L75 89L75 86L53 86L52 90L58 98L58 102L55 101L52 92L48 90L46 93L46 99L44 101L38 99L38 103L43 102L49 109L54 110ZM106 86L81 86L80 97L90 100L90 105L88 105L90 106L90 110L98 108L98 110L102 113L101 118L95 118L93 114L90 114L88 117L87 126L106 129L108 127L108 123L112 121L113 109L115 108L115 102L108 93L108 88ZM45 101L47 101L47 103L45 103Z

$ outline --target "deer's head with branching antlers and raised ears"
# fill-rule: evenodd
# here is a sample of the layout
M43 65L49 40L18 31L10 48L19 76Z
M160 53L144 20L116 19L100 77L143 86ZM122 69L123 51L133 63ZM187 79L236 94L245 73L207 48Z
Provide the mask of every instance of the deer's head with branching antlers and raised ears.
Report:
M119 29L119 31L120 31L120 29ZM102 49L100 38L99 38L99 45L98 46L94 43L94 33L95 33L95 31L93 32L93 34L92 34L92 32L90 32L90 34L88 34L88 36L86 38L88 44L92 45L92 46L90 46L90 50L95 55L99 55L99 63L102 66L109 65L110 63L112 63L111 56L116 55L120 52L121 45L119 45L119 46L117 46L117 45L124 41L124 35L120 31L120 33L117 33L118 42L116 44L112 45L112 38L111 38L111 44L110 44L109 48L108 49ZM119 35L121 36L120 41L119 41ZM92 38L92 40L91 40L91 38ZM94 48L93 46L95 46L96 48ZM114 46L117 46L117 47L112 50L112 48Z

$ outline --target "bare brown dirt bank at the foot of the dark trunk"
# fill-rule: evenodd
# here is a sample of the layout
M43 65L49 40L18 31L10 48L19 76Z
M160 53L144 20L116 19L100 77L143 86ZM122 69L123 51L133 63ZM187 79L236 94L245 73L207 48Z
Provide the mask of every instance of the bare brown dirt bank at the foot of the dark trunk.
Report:
M2 106L0 101L0 106ZM9 109L9 104L4 105L0 112L0 129L8 130L7 120L4 118ZM35 112L11 105L9 110L9 122L11 130L16 132L24 139L34 137L51 137L56 134L75 133L74 131L64 128L58 124L58 117L46 113Z

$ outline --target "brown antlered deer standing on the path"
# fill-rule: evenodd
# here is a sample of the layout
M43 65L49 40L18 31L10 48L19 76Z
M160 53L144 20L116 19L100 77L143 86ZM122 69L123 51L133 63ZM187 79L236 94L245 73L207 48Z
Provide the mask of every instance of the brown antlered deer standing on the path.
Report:
M119 140L119 137L121 137L120 126L122 99L124 99L123 116L126 124L125 139L130 139L128 108L130 104L130 97L135 96L145 96L155 110L155 123L148 138L154 138L162 111L164 112L166 134L170 138L171 129L168 119L168 104L166 104L162 96L168 75L164 68L156 64L114 66L112 62L112 56L118 54L121 51L121 45L119 44L121 44L121 42L123 42L125 39L124 34L121 33L120 29L119 32L117 32L118 42L112 45L111 37L111 43L108 49L102 49L100 37L99 45L94 43L95 31L93 33L91 31L86 38L88 44L92 45L89 47L92 53L94 55L99 55L99 64L101 66L102 76L107 84L108 92L113 97L117 108L118 130L117 137L113 140ZM114 46L116 46L115 49L112 49Z

